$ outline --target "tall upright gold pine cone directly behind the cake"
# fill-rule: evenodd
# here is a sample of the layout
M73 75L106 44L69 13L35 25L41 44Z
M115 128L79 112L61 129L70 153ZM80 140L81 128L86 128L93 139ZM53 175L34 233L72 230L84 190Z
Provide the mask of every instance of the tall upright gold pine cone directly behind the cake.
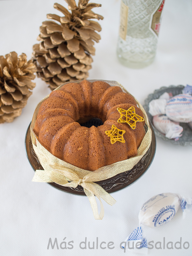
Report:
M65 16L47 14L48 19L40 27L40 35L37 40L40 44L33 46L33 61L37 67L37 76L49 83L52 90L67 81L86 79L91 68L91 54L95 54L94 41L99 42L100 31L98 22L90 20L102 20L103 17L91 11L101 4L88 4L89 0L79 0L76 6L75 0L65 0L68 3L69 12L60 4L54 4L54 8ZM60 23L60 24L58 24Z

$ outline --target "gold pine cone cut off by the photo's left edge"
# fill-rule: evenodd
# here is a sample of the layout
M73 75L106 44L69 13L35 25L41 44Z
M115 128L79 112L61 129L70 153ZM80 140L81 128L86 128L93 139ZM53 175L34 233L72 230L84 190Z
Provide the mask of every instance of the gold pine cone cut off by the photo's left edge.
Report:
M34 72L36 66L33 60L27 61L25 53L19 58L16 52L0 56L0 123L11 123L21 115L36 85L31 82L36 77Z

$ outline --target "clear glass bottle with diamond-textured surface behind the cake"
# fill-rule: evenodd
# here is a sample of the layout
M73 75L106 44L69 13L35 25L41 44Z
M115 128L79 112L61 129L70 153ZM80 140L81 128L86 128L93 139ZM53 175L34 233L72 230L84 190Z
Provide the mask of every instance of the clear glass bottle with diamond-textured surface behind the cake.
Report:
M144 68L155 59L164 1L121 1L117 56L123 65Z

